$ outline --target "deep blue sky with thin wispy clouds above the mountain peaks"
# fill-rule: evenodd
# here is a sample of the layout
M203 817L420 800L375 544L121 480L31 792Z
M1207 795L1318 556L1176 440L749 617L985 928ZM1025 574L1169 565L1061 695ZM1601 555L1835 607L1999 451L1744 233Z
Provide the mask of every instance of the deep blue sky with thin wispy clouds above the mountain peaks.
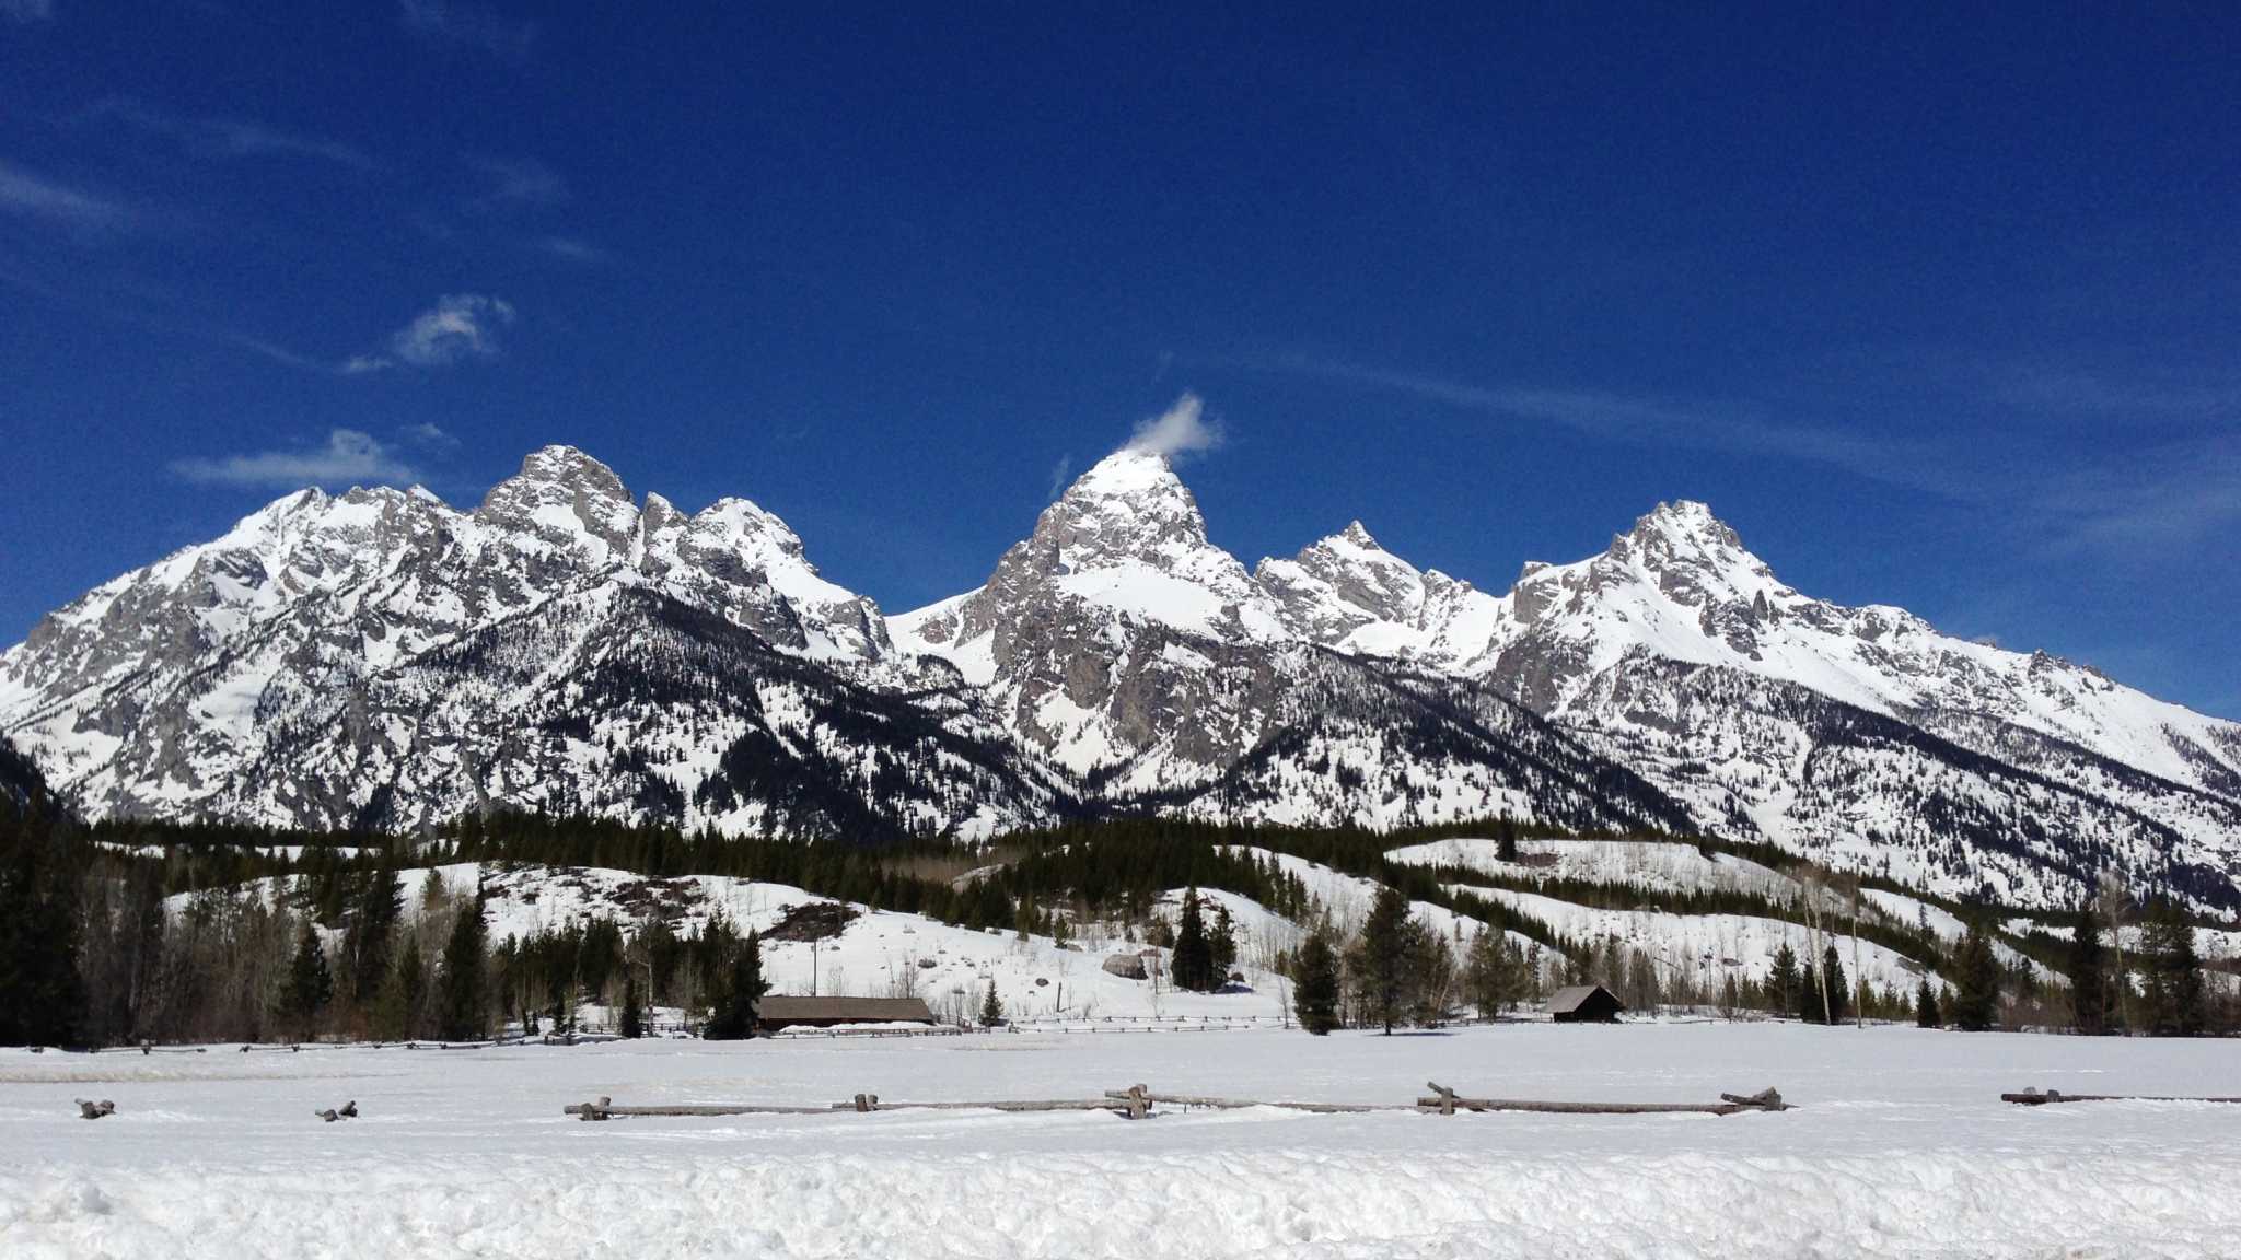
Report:
M905 610L1192 390L1248 563L1701 498L2241 717L2230 7L708 9L0 0L0 639L545 442Z

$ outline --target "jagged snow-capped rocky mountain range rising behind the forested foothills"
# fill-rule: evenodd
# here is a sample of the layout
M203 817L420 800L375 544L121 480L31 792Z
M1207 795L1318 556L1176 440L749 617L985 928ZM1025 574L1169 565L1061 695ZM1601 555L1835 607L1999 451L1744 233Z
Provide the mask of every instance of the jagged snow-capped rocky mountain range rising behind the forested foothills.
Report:
M2113 865L2241 906L2241 724L1800 594L1694 502L1499 596L1360 522L1248 569L1138 448L982 587L896 617L753 502L641 502L567 446L475 511L303 491L0 652L0 733L92 816L878 839L1510 814L2024 904Z

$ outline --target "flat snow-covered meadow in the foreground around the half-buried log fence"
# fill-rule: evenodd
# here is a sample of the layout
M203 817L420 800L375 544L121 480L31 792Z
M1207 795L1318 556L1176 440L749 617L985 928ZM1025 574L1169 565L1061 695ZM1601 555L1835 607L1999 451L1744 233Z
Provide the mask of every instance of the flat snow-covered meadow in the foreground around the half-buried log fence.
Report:
M1425 1081L1782 1114L883 1112L562 1105L1177 1094L1407 1103ZM2241 1253L2230 1040L1800 1025L1020 1031L506 1049L0 1051L0 1256ZM117 1114L78 1119L74 1099ZM356 1101L361 1119L314 1112Z

